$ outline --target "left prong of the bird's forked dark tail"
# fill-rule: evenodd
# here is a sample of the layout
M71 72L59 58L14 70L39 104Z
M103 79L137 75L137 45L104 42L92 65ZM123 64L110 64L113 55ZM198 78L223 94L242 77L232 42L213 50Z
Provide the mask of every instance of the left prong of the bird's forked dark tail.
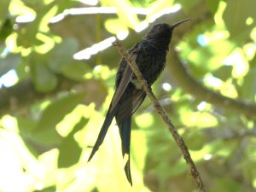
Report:
M108 127L111 125L113 117L116 115L116 113L118 112L118 108L119 105L116 105L113 110L110 112L110 107L108 109L108 113L106 116L106 119L104 120L104 123L102 125L102 129L97 137L96 143L94 145L94 147L92 148L92 151L90 153L90 157L88 159L88 161L91 160L91 158L93 157L93 155L96 153L96 151L98 150L98 148L102 145L102 142L107 134L108 131Z

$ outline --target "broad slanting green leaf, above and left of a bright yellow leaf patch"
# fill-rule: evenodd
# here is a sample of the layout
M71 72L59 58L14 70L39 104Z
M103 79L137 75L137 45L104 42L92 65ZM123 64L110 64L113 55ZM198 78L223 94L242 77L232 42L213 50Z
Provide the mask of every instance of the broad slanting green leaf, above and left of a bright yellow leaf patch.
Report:
M45 108L35 131L55 130L55 125L57 125L67 113L72 112L83 100L84 94L73 94L53 102Z

